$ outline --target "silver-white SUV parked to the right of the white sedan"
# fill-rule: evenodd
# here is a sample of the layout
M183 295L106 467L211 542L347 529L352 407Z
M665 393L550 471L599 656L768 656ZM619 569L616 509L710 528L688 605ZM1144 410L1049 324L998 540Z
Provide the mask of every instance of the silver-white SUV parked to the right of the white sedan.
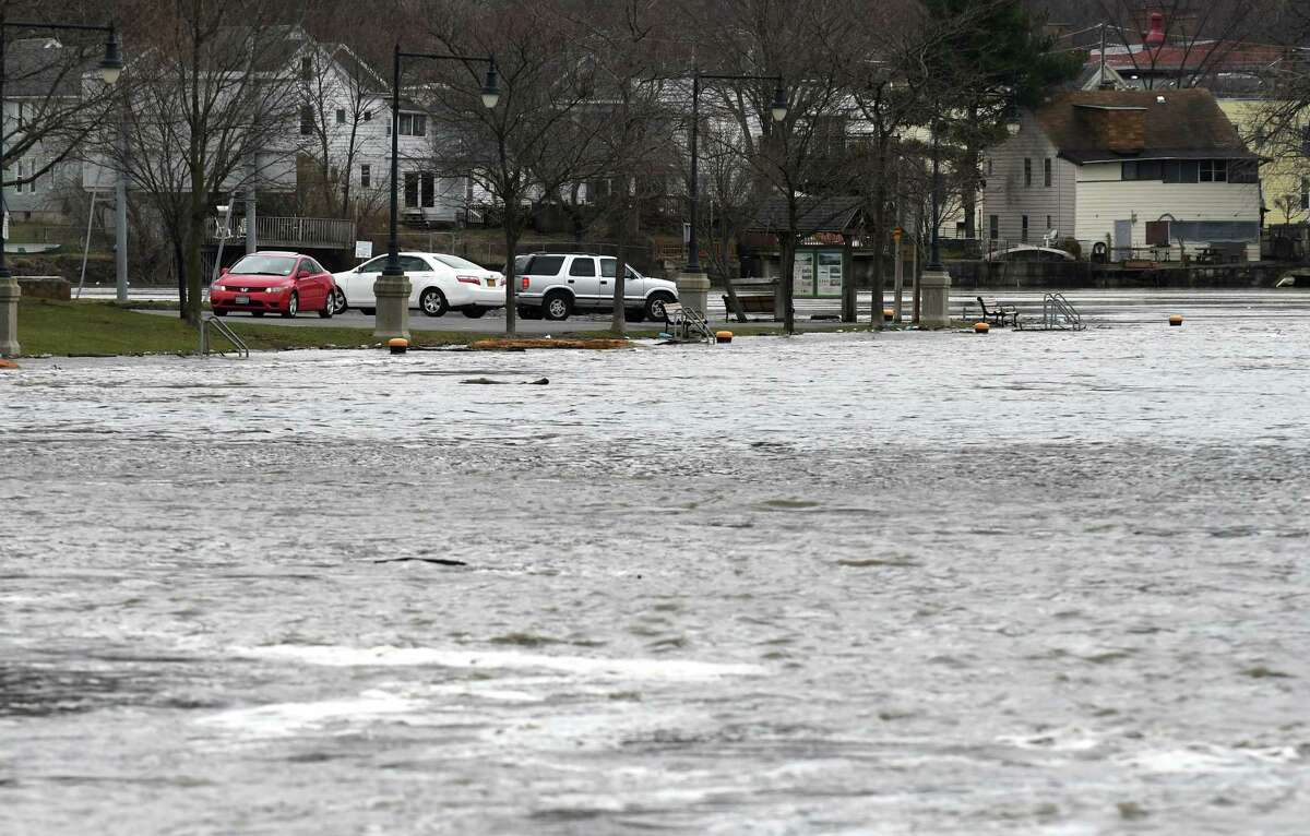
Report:
M590 253L534 253L514 261L517 313L524 320L567 320L571 313L612 311L617 261ZM629 322L663 320L664 303L677 301L677 286L627 267L624 308Z

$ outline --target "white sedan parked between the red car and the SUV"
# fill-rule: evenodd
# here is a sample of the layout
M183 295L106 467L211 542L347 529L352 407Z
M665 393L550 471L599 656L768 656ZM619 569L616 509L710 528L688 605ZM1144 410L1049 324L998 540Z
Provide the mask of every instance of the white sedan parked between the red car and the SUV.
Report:
M495 270L445 253L401 253L400 257L401 270L410 280L410 308L427 316L444 316L455 309L477 318L504 307L504 276ZM337 280L333 313L347 308L359 308L369 316L376 313L373 282L385 266L386 256L379 256L354 270L333 274Z

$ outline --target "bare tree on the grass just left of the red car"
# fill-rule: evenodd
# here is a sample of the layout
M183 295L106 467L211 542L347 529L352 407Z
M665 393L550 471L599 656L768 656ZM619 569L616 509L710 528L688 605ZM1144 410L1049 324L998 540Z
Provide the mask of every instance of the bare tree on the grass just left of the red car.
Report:
M134 29L152 45L131 56L126 153L105 138L168 231L182 267L182 314L198 322L211 207L232 191L288 176L300 149L297 29L283 0L139 3ZM240 22L236 22L240 21ZM147 34L149 33L149 34Z

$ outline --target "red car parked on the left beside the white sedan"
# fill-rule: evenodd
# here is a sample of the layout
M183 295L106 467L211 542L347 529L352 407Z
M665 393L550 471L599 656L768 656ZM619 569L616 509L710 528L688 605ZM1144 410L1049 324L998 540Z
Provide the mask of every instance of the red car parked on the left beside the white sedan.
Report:
M335 290L331 274L309 256L254 253L223 270L210 287L210 308L214 316L249 311L254 316L293 317L301 311L317 311L326 320L331 317Z

